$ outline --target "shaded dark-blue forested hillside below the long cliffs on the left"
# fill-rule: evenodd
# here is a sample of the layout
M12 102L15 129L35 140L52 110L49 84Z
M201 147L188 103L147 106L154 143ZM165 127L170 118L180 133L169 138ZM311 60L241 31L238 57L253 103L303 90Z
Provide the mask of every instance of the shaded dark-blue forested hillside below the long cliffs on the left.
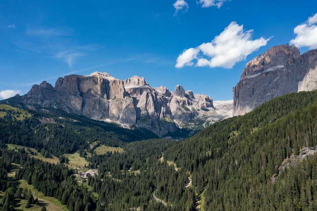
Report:
M29 110L0 105L0 142L33 147L59 157L65 153L89 149L95 141L107 146L156 138L153 133L134 128L124 129L113 123L93 120L56 109ZM1 116L0 116L1 117Z

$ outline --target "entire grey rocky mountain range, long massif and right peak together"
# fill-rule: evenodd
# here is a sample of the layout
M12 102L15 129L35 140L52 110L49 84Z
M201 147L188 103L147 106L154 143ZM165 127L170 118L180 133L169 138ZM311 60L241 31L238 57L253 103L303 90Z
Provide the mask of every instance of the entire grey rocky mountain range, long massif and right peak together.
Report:
M13 101L28 108L62 109L128 128L134 125L166 137L179 134L180 129L196 131L232 115L243 115L284 94L315 90L316 64L317 49L300 55L295 46L272 47L246 64L233 88L233 101L214 102L180 85L171 92L164 86L151 87L144 77L121 80L102 72L60 77L55 87L43 81Z

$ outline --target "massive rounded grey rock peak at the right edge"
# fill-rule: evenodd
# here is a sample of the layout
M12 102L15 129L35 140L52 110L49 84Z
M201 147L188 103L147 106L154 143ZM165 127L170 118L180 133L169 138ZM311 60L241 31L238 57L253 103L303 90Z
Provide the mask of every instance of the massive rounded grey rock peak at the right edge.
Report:
M317 50L300 55L295 46L275 46L246 64L233 88L233 115L272 98L317 88Z

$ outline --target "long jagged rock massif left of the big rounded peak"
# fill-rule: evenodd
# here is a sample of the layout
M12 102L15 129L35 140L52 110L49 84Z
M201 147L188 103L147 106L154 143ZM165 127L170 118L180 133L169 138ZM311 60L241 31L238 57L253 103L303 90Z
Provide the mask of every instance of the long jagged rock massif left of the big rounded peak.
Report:
M179 129L203 129L232 115L232 101L214 104L209 96L193 94L179 85L171 92L164 86L150 87L144 77L120 80L102 72L60 77L55 87L43 81L26 95L14 98L28 108L56 108L124 126L135 125L160 137ZM10 104L10 99L7 102Z

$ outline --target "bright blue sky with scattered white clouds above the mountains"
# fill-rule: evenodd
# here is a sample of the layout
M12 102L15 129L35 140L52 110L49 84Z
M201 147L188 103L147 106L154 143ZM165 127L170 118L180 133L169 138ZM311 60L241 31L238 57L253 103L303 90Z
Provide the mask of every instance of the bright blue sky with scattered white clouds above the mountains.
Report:
M230 100L281 44L317 48L317 1L0 1L0 99L100 71Z

